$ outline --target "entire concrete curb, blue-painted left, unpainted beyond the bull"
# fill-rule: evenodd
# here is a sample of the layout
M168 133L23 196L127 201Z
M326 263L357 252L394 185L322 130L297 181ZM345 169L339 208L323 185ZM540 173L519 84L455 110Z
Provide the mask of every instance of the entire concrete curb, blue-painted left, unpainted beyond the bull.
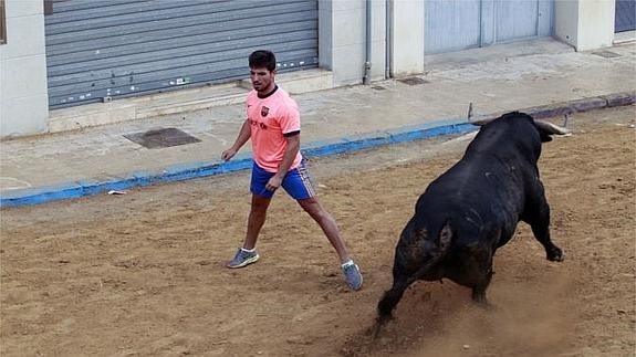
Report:
M519 112L528 113L534 118L548 118L606 107L632 105L634 103L636 103L636 92L626 92L522 108L519 109ZM480 118L496 118L501 114L503 113L492 113L480 116ZM408 126L393 130L348 136L334 140L310 143L303 146L302 153L307 158L322 157L476 129L477 127L466 123L466 119L444 119L426 125ZM86 179L49 187L19 189L4 192L0 196L0 208L40 204L103 193L110 190L125 190L159 182L180 181L228 174L248 169L251 166L252 160L249 155L242 155L228 162L186 162L167 167L160 171L135 171L100 181Z

